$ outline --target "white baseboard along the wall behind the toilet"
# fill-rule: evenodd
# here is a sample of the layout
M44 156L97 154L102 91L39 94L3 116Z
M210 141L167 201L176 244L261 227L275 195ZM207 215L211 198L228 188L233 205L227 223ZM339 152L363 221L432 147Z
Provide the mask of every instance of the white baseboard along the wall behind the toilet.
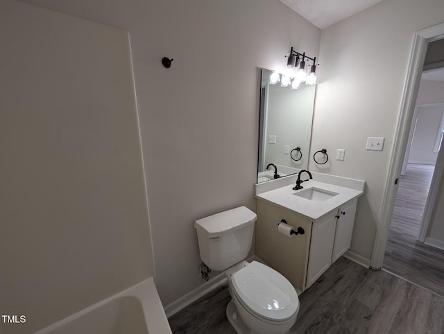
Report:
M251 262L251 261L260 261L260 260L259 258L257 258L257 256L253 255L249 258L246 258L246 261ZM187 295L184 295L179 299L176 299L176 301L173 301L171 304L165 306L164 310L165 314L167 315L167 318L171 317L172 315L175 315L180 310L194 303L194 301L198 300L199 298L207 295L207 293L210 293L213 290L216 290L217 288L227 283L228 279L226 278L225 273L221 272L217 276L214 276L212 279L210 279L210 281L207 281L202 285L199 285L196 289L188 292Z

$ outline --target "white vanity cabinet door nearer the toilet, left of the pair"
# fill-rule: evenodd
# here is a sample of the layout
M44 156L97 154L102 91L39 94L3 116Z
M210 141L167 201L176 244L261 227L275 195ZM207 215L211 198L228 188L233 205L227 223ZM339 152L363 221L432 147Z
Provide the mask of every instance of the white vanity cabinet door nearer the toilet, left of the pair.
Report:
M307 270L307 288L330 267L336 229L336 211L313 223Z

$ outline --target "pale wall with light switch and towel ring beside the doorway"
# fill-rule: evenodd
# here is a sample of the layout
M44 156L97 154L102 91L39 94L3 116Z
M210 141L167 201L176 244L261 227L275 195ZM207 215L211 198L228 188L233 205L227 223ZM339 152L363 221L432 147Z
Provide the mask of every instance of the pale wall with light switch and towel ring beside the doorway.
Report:
M413 33L444 21L444 2L384 0L321 33L321 67L311 150L330 152L311 170L367 182L359 200L352 251L370 259ZM367 137L385 137L382 152ZM345 148L345 160L334 159Z

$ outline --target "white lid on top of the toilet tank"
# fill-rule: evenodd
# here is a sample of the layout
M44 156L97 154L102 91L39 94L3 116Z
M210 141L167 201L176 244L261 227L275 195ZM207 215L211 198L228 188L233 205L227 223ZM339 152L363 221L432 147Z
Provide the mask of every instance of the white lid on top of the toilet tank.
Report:
M217 236L224 232L231 232L253 224L256 218L256 213L245 206L239 206L238 208L196 220L194 227L209 236Z

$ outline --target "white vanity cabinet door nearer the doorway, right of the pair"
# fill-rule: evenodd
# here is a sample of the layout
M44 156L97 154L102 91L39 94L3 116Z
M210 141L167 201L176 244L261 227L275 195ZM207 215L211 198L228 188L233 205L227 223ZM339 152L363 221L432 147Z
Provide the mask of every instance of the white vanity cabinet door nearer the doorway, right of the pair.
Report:
M342 254L347 252L352 243L353 225L355 225L355 213L358 200L352 200L339 208L338 220L336 222L336 234L334 236L334 247L332 263Z

